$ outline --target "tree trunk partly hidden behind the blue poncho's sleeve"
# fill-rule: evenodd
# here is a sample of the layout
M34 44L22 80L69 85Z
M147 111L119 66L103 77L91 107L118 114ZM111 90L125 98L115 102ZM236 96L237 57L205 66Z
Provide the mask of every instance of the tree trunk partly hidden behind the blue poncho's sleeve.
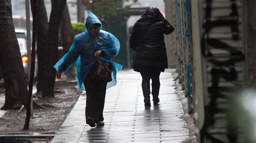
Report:
M68 5L65 5L65 8L62 13L62 19L60 21L60 36L62 39L62 47L63 47L63 53L69 52L69 48L73 43L74 39L74 32L73 28L71 26L71 20L69 15L69 8ZM68 72L65 73L69 78L72 78L75 76L76 71L75 67L73 66L70 68Z

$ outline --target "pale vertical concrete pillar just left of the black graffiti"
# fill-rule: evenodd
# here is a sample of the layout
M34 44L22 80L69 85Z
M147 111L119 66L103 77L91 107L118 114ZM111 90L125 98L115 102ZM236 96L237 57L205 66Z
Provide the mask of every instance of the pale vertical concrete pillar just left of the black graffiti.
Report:
M200 17L198 1L191 1L191 24L193 45L193 117L196 128L197 141L200 142L200 130L204 125L204 88L203 88L203 61L201 55L200 41Z

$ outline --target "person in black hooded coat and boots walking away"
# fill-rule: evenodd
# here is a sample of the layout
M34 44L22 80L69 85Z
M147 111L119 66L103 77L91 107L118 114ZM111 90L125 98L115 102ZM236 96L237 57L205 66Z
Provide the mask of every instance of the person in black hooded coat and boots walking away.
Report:
M145 106L150 104L150 79L152 80L153 103L159 103L159 76L168 68L164 34L174 31L158 8L149 7L134 24L130 35L130 48L135 51L133 69L142 75L142 90Z

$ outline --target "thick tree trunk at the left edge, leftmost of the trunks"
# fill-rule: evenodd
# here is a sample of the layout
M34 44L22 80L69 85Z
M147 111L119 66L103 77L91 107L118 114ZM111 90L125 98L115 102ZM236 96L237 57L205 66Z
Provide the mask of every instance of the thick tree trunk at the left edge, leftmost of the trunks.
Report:
M0 61L5 85L5 103L2 110L26 106L27 81L21 52L12 21L11 1L0 1Z

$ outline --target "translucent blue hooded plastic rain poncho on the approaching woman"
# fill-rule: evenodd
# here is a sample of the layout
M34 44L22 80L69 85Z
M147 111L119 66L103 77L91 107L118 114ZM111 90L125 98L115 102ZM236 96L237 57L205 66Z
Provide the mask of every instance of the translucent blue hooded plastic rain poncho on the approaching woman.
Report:
M89 28L93 24L100 24L96 36L89 33ZM75 36L69 52L56 63L54 68L61 73L65 73L66 70L72 67L73 63L76 63L78 88L85 90L84 78L95 65L97 59L93 55L99 49L102 49L104 55L100 56L100 59L109 62L113 66L112 81L107 83L106 88L113 87L117 84L117 70L122 69L122 65L112 62L111 59L119 53L120 43L114 35L102 30L102 23L91 11L89 11L86 18L85 32Z

